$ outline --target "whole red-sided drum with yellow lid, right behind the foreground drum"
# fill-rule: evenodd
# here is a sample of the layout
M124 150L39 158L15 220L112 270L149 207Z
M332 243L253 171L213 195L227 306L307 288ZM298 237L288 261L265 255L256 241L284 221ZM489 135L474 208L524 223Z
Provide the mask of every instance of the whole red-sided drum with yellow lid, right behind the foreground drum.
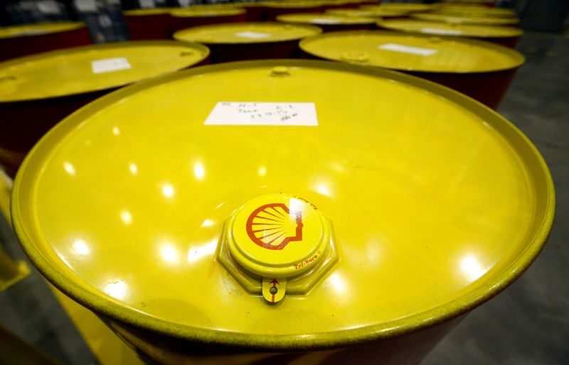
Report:
M300 42L309 58L407 72L467 94L496 109L521 53L482 40L388 31L331 32Z

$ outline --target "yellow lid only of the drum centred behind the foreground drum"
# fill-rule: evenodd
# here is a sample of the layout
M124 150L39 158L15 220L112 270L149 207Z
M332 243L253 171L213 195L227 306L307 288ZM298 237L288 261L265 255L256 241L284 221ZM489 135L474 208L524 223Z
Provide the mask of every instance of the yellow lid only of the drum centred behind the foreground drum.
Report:
M196 26L174 33L174 39L206 44L268 43L316 36L317 26L283 23L225 23Z

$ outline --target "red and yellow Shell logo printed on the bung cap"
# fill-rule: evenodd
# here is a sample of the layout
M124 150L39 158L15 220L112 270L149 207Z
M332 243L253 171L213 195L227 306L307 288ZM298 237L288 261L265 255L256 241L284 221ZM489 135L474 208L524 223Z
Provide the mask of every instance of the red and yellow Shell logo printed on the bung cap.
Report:
M302 241L302 212L292 214L283 203L262 205L247 219L251 241L263 249L282 250L292 241Z

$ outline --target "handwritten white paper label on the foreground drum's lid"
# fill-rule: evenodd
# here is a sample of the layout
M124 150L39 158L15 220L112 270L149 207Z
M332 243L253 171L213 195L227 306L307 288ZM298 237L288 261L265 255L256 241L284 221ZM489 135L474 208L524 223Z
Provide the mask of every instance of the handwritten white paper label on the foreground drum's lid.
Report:
M314 103L218 102L208 126L317 126Z

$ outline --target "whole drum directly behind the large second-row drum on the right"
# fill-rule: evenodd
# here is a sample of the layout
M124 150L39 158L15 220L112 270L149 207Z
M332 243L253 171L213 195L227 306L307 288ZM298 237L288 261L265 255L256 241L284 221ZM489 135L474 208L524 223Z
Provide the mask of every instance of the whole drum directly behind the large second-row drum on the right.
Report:
M454 36L477 38L492 43L516 48L523 31L507 26L477 26L474 24L440 23L437 21L418 21L397 19L378 21L378 28L388 31L430 34L432 36Z

